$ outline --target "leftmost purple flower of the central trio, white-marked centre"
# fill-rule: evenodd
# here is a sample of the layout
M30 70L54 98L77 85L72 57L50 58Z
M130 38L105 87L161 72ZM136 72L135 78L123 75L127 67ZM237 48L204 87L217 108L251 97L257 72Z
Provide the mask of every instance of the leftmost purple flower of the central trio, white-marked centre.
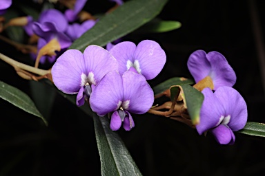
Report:
M66 94L77 94L77 105L84 104L92 88L108 72L117 70L116 59L103 47L90 45L84 54L79 50L67 50L52 67L52 80Z

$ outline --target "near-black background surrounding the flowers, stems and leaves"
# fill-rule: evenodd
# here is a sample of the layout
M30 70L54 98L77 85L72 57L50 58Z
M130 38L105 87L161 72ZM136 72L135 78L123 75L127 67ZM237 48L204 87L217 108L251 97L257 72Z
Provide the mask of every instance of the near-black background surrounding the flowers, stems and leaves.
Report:
M195 50L221 52L237 74L234 88L248 104L248 121L265 122L260 72L265 67L259 61L255 41L257 34L264 52L265 2L253 2L254 10L250 1L170 0L159 18L180 21L181 28L161 34L129 34L124 40L139 43L152 39L166 51L167 63L150 81L151 86L173 76L192 78L186 62ZM88 1L86 10L104 13L112 5L109 1ZM19 10L15 5L12 8ZM56 8L63 10L60 5ZM253 13L257 18L253 19ZM256 20L260 28L253 30ZM2 41L0 52L33 63L28 55ZM92 118L57 94L54 87L43 81L23 80L3 61L0 74L2 81L28 94L49 122L46 127L39 118L0 100L0 175L100 175ZM149 114L133 116L135 128L117 133L144 175L259 175L265 171L265 143L260 137L235 133L233 146L221 146L212 135L199 136L186 124Z

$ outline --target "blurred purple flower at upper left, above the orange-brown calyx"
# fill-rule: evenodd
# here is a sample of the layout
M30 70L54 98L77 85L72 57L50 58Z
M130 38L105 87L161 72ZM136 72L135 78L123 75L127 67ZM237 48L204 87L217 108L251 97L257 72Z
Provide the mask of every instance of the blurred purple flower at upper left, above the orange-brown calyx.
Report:
M55 18L56 17L56 18ZM50 9L41 13L39 22L32 24L32 30L46 40L57 39L61 49L66 49L72 44L71 39L64 34L68 28L68 21L59 10Z

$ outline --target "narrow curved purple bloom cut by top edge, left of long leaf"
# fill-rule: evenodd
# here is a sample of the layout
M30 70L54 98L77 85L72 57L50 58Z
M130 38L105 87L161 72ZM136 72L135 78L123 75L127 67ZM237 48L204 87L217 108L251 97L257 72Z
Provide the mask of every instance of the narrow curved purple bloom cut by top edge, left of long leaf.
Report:
M86 4L87 0L77 0L75 2L74 9L68 9L66 12L64 12L66 19L69 22L76 21L78 19L77 14L84 8L84 5Z

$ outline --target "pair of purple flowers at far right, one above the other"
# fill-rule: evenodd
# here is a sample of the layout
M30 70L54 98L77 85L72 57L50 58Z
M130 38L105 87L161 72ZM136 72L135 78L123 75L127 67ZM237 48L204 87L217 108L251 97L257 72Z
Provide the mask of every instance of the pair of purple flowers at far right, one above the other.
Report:
M206 54L202 50L190 55L188 69L197 83L195 87L205 87L202 89L204 102L200 123L196 126L198 133L202 135L210 131L219 144L233 144L233 131L244 128L248 114L244 98L232 88L236 81L235 72L222 54Z

